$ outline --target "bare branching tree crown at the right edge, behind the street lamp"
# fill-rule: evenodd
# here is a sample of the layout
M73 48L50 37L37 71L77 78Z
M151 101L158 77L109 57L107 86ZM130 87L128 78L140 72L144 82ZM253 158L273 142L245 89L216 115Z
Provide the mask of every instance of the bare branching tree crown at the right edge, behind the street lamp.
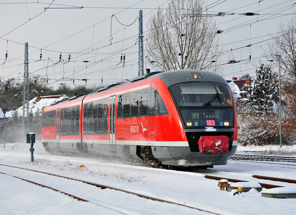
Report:
M296 34L295 20L280 23L278 32L271 35L272 42L265 51L266 56L273 58L274 54L281 54L281 68L287 73L289 81L296 83Z

